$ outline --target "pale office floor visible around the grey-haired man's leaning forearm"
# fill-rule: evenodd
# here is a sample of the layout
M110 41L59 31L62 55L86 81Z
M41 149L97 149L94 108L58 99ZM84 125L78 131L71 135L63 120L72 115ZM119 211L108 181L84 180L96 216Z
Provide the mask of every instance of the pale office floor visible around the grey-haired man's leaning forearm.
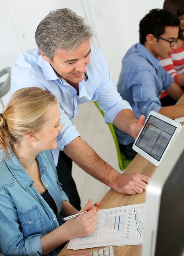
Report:
M113 137L103 116L93 102L79 105L79 113L74 118L73 123L80 132L82 139L85 140L103 160L119 171ZM121 171L119 172L122 173ZM75 163L73 164L72 175L76 182L82 207L87 204L89 198L92 199L94 203L100 201L110 189L110 187L91 177L91 175L88 175Z

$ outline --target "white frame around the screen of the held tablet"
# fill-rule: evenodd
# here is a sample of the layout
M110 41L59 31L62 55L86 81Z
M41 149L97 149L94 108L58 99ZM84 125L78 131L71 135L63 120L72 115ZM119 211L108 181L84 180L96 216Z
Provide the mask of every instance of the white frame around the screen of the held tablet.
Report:
M163 153L163 155L162 155L162 157L161 157L161 159L159 161L156 160L154 157L150 156L149 154L147 154L144 150L142 150L138 146L136 146L136 142L139 139L139 136L142 133L142 130L144 129L145 125L147 124L147 120L149 119L150 116L155 116L156 118L158 118L158 119L160 119L160 120L162 120L164 122L167 122L168 124L173 125L173 126L176 127L176 130L174 131L173 136L171 137L170 142L168 143L168 145L167 145L167 147L166 147L166 149L165 149L165 151L164 151L164 153ZM161 114L159 114L159 113L157 113L155 111L151 111L149 116L147 116L147 119L146 119L146 121L145 121L145 123L144 123L144 125L143 125L143 127L141 129L141 131L139 132L135 142L133 143L133 147L132 148L137 153L141 154L144 158L146 158L148 161L153 163L155 166L159 166L159 164L161 163L161 161L164 158L165 154L167 153L170 145L173 143L173 140L176 137L176 134L178 133L180 127L181 127L181 124L179 122L176 122L173 119L170 119L167 116L163 116L163 115L161 115Z

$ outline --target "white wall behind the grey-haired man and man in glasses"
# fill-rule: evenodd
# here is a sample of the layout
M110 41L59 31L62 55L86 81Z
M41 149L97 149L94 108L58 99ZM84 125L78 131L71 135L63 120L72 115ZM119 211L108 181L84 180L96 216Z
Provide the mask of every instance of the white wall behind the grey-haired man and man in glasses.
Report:
M139 41L139 21L153 8L162 8L164 0L0 0L0 70L12 66L17 56L35 45L34 32L48 12L70 8L85 17L108 61L115 83L122 57Z

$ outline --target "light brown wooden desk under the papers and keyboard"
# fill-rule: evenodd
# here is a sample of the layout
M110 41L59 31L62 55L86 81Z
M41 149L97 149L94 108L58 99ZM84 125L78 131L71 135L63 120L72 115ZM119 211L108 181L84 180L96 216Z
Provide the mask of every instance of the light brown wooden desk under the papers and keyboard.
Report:
M176 103L177 105L184 103L184 95L181 99ZM182 123L184 125L184 123ZM130 163L130 165L125 170L124 174L131 173L139 173L142 175L147 175L151 177L153 172L156 170L156 166L147 161L141 155L137 155L134 160ZM136 195L122 195L118 192L115 192L113 189L105 195L99 205L99 209L108 209L113 207L131 205L131 204L141 204L145 201L145 191L142 194ZM59 253L59 256L64 256L70 253L79 252L82 250L67 250L68 244L63 248L63 250ZM128 246L116 246L115 254L116 256L141 256L141 245L128 245ZM94 250L98 250L98 248L89 248L85 249L88 252L93 252ZM182 254L184 256L184 253Z

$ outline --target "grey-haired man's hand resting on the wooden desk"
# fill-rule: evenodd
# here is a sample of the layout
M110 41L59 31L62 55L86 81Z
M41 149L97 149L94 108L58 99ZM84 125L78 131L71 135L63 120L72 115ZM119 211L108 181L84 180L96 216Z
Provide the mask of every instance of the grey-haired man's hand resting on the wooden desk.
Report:
M135 195L141 194L146 189L150 178L138 173L119 174L114 180L112 188L121 194Z

